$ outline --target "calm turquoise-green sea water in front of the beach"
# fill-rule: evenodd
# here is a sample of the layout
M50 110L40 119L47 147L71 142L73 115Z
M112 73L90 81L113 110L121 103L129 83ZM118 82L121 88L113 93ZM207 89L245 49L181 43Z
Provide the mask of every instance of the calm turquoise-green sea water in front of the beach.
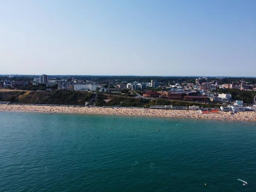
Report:
M17 114L0 112L0 191L256 191L254 122Z

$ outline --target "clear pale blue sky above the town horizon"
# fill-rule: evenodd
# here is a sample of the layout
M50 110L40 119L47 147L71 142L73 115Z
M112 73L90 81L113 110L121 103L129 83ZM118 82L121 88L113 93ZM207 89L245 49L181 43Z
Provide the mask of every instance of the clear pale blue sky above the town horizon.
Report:
M0 74L256 76L256 0L2 0Z

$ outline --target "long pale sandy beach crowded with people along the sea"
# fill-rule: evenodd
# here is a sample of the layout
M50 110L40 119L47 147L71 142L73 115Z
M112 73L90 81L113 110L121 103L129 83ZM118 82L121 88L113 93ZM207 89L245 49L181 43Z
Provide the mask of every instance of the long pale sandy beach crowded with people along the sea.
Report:
M192 119L226 119L233 121L256 121L254 111L206 113L189 110L161 110L161 109L130 109L130 108L102 108L102 107L67 107L67 106L44 106L44 105L0 105L0 111L23 111L40 113L84 113L84 114L108 114L130 116L155 116L169 118L192 118Z

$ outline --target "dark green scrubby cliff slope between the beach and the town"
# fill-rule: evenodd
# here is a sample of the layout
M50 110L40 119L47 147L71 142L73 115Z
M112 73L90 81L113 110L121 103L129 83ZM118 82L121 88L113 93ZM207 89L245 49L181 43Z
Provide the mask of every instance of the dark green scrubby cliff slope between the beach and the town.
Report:
M94 98L94 100L93 100ZM49 104L49 105L84 105L93 100L95 106L122 106L122 107L149 107L150 105L175 105L200 107L220 107L215 104L174 101L167 99L143 99L132 96L116 96L111 94L93 93L71 90L52 91L0 91L0 101L23 104ZM90 104L91 105L91 104Z

